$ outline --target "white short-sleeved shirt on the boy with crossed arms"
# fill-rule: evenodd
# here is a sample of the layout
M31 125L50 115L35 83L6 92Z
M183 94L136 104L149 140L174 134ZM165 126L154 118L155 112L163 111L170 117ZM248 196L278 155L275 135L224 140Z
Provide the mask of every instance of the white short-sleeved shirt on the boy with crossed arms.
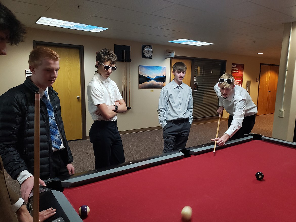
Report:
M105 103L107 106L115 105L115 101L122 99L119 89L114 81L109 77L104 78L95 72L94 77L87 85L87 98L89 100L89 113L93 120L105 120L102 116L96 115L98 107L96 105ZM115 115L110 121L117 121Z

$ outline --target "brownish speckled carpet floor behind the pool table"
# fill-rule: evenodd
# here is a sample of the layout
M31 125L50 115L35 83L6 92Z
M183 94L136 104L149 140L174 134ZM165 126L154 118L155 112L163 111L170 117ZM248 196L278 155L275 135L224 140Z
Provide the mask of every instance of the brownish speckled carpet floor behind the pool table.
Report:
M256 117L256 123L252 133L272 136L274 114L260 115ZM227 130L227 120L220 122L219 136ZM194 124L191 127L186 147L210 143L217 133L217 121L211 123ZM149 157L162 153L163 133L162 129L128 133L121 135L126 161ZM83 172L94 169L93 147L89 140L69 141L69 146L74 158L75 172ZM7 184L20 195L20 185L17 181L5 173Z

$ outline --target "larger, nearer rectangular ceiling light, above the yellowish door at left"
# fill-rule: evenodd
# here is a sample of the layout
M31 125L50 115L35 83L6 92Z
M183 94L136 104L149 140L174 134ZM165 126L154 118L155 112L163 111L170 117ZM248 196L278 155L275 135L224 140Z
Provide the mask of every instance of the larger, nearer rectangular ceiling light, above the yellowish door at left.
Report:
M102 28L102 27L93 26L93 25L85 25L85 24L80 24L76 22L67 22L63 20L46 18L46 17L40 17L35 23L41 24L41 25L50 25L50 26L56 26L56 27L62 27L62 28L83 30L88 32L101 32L107 29L107 28Z

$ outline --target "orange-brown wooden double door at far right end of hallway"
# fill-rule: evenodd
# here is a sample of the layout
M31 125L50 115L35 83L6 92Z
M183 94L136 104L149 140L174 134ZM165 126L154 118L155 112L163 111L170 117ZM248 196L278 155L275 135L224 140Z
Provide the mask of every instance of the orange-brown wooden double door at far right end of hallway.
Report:
M279 66L261 65L257 115L274 113L278 76Z

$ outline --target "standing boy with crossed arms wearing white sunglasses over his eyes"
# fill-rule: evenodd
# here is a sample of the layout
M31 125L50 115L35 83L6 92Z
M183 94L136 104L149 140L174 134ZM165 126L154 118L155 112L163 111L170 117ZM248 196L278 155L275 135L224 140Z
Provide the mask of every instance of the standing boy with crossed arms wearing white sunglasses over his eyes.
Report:
M89 113L94 120L89 130L89 140L94 147L95 168L124 163L124 151L117 128L117 113L127 107L119 89L110 79L116 71L117 56L111 49L101 49L96 54L97 71L87 86Z

